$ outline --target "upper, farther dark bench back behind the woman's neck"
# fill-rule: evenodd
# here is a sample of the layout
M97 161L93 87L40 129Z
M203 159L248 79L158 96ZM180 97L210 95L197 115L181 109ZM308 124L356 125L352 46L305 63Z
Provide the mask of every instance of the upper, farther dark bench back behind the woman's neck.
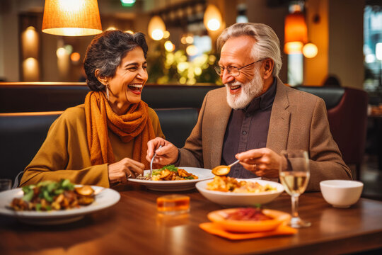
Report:
M200 108L208 91L219 86L146 84L142 100L151 108ZM85 83L0 83L0 113L64 111L78 106L90 90Z

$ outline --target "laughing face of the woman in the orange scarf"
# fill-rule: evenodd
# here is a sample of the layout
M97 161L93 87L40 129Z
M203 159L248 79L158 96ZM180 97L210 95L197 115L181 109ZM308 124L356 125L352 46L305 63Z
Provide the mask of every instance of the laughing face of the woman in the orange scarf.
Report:
M120 110L141 101L141 92L148 79L144 52L137 46L127 52L115 75L108 77L110 103Z

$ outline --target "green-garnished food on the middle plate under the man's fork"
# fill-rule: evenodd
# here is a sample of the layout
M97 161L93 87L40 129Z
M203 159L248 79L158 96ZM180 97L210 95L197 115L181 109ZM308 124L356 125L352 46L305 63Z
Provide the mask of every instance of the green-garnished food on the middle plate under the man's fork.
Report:
M151 181L179 181L199 179L185 169L180 169L174 165L163 166L161 169L153 170Z

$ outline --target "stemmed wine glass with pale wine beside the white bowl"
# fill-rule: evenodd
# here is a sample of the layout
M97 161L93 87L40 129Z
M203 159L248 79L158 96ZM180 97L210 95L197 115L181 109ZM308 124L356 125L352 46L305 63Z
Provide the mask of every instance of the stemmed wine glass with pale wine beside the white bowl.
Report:
M285 191L291 196L292 217L289 222L291 227L309 227L311 222L301 220L299 217L299 196L308 186L309 158L304 150L282 151L282 164L280 164L279 178Z

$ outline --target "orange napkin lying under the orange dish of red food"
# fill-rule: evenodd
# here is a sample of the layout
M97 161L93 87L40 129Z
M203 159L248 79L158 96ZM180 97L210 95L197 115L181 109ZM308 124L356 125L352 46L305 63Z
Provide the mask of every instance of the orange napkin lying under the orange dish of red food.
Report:
M216 234L220 237L225 237L231 240L253 239L253 238L260 238L260 237L271 237L276 235L289 235L289 234L297 233L297 229L288 227L286 225L280 225L279 227L277 227L277 229L274 229L272 231L253 232L253 233L228 232L214 222L201 223L199 224L199 227L203 229L205 232L208 232L209 234Z

